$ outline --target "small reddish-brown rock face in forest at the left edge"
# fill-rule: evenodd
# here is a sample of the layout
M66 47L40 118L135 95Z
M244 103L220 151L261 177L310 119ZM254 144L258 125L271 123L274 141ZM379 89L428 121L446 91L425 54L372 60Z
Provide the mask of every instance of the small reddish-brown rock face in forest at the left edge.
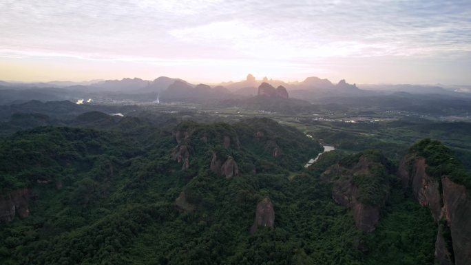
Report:
M28 189L18 189L0 195L0 222L10 222L15 216L25 218L30 215L28 209Z

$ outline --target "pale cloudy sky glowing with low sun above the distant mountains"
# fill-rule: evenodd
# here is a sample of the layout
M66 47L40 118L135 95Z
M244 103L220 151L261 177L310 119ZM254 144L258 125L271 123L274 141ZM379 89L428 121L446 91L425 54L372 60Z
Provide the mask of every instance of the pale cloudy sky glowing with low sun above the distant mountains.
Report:
M0 80L471 85L471 1L0 0Z

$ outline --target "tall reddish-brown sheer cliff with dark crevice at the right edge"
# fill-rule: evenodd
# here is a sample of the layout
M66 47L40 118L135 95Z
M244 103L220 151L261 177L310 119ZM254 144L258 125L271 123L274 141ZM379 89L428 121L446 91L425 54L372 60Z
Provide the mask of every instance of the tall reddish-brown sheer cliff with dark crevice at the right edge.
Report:
M437 178L426 173L426 159L406 156L399 166L398 175L404 187L410 187L415 199L428 206L439 225L435 242L437 264L471 264L471 198L463 185L447 176ZM442 221L441 221L442 220ZM444 222L444 224L443 224ZM450 229L452 247L447 246L444 231Z

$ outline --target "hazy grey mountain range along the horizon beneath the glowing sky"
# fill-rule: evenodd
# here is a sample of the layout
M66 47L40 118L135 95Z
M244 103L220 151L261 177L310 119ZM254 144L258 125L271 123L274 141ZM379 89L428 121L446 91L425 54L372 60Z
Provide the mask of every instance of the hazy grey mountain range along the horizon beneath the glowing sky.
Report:
M390 98L417 98L417 96L447 96L448 98L471 98L469 87L441 87L439 85L361 85L341 80L333 83L328 79L315 76L304 81L284 82L269 78L256 79L248 74L247 78L238 82L216 84L192 84L180 78L160 76L153 81L140 78L123 78L122 80L105 80L89 82L54 81L50 83L9 83L0 81L0 105L25 103L28 100L70 100L76 102L90 98L88 101L97 103L152 103L157 99L161 103L211 103L222 101L238 102L249 100L248 103L235 105L260 105L259 87L267 84L282 87L289 98L305 100L308 103L324 104L339 101L357 100L355 98L379 98L388 101ZM399 93L399 94L398 94ZM401 94L402 93L402 94ZM287 99L287 96L286 96ZM229 100L229 101L227 101ZM235 101L234 101L235 100ZM87 101L87 100L85 100ZM270 99L269 101L279 101ZM361 101L361 100L360 100ZM360 103L356 101L354 103ZM255 103L257 102L257 103ZM230 105L232 105L232 103ZM273 102L274 104L277 104ZM299 103L299 102L298 102ZM271 103L269 103L271 105ZM282 105L285 105L284 103ZM302 104L304 105L304 103ZM394 105L394 104L393 104ZM271 109L271 108L269 108ZM296 109L299 109L296 107ZM302 107L304 109L304 107ZM266 109L263 109L266 110Z

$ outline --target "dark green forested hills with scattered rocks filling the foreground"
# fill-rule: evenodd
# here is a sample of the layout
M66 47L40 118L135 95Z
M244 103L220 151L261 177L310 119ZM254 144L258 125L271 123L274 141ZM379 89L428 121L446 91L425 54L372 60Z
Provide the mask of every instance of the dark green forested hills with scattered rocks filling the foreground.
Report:
M430 210L380 151L304 169L322 147L268 118L74 121L1 138L0 264L435 260Z

